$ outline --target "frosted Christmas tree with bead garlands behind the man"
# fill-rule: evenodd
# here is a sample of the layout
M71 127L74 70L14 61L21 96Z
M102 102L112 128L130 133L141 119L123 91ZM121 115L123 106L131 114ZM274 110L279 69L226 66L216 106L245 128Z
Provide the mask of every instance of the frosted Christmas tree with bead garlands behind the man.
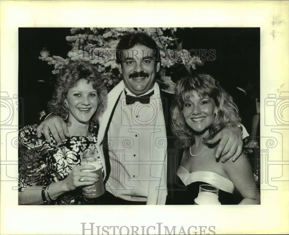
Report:
M145 32L160 47L162 66L157 82L161 89L173 93L175 82L170 76L172 69L185 69L190 74L197 65L203 65L198 56L192 57L182 49L181 41L175 36L178 29L181 28L71 28L73 36L66 37L72 47L67 58L50 56L45 49L40 52L39 59L54 65L53 74L58 74L69 60L89 60L101 73L108 90L111 90L122 79L114 56L121 36L127 32Z

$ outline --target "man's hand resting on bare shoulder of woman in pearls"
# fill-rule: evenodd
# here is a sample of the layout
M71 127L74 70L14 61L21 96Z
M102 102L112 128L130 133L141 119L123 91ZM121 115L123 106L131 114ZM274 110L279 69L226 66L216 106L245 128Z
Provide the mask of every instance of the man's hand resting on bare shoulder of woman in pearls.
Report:
M238 126L228 126L221 130L212 140L208 140L209 144L215 144L218 141L216 158L222 157L222 162L232 158L236 161L242 153L242 130Z

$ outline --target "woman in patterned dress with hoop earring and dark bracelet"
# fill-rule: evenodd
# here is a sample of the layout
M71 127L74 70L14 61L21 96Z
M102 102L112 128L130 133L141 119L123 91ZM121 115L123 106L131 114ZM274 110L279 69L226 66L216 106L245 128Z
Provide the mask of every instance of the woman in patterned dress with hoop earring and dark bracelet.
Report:
M65 119L70 137L62 143L56 143L51 133L49 142L44 136L37 138L37 125L19 131L19 204L94 203L82 196L81 186L94 184L99 175L87 172L94 166L80 164L80 153L98 153L95 133L106 96L101 75L88 61L71 61L62 69L48 108ZM98 154L97 158L104 164Z

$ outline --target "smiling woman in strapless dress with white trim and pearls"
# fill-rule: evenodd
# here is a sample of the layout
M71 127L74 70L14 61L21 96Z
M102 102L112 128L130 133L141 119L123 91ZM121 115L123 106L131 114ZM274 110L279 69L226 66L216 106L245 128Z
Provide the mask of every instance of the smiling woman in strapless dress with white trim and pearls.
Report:
M235 162L223 163L214 157L216 146L207 142L224 127L240 123L238 108L219 83L205 74L181 79L171 114L173 133L184 142L175 204L194 204L204 183L219 188L221 204L260 204L247 156L242 153Z

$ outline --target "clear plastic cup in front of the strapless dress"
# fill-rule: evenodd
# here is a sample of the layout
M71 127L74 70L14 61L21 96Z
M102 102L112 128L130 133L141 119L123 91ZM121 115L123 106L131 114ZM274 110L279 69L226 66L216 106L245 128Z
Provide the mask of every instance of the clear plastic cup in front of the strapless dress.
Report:
M210 184L201 184L198 197L195 198L195 205L221 205L218 196L219 189Z

